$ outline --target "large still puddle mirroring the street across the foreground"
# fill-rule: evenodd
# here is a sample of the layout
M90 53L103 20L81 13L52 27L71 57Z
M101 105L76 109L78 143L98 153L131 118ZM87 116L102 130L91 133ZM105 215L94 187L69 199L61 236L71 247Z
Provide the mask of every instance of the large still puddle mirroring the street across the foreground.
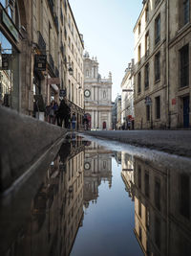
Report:
M190 254L189 158L72 133L36 173L0 198L0 255Z

